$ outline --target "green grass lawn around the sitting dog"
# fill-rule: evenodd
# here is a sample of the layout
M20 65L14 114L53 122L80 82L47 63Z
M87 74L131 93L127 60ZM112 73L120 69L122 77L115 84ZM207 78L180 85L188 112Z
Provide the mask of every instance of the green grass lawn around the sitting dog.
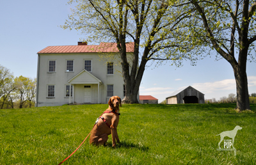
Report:
M76 150L101 105L0 109L0 164L58 164ZM120 143L89 145L63 164L256 164L256 113L236 104L123 105ZM251 104L256 112L256 104ZM237 131L233 151L218 151L223 131ZM223 142L221 143L223 148Z

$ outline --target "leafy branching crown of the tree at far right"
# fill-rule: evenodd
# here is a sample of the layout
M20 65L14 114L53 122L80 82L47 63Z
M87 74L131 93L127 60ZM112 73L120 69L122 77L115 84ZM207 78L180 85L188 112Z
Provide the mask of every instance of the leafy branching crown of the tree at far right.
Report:
M192 54L193 59L204 58L205 53L216 54L216 59L225 58L228 62L236 61L235 54L244 49L248 44L248 54L251 60L255 60L254 44L255 41L255 2L244 1L176 1L173 6L180 10L189 10L190 16L182 22L186 31L179 29L180 39L188 44L201 46L199 54ZM236 4L238 3L238 4ZM248 9L243 8L249 4ZM246 17L241 17L246 12L251 13ZM248 28L243 31L243 28ZM241 36L247 33L248 40L241 40ZM214 50L214 51L213 51ZM201 54L203 53L203 54ZM199 56L198 56L199 55ZM196 58L197 57L197 58ZM231 63L233 65L233 63Z

